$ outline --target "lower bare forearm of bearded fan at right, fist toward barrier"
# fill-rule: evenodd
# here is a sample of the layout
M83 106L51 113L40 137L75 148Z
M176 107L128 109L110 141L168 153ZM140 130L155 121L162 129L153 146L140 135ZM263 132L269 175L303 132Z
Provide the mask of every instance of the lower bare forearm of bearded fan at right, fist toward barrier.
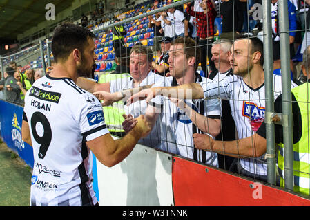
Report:
M208 135L194 133L193 139L195 148L229 154L232 157L260 157L266 153L266 139L257 133L233 141L217 141Z

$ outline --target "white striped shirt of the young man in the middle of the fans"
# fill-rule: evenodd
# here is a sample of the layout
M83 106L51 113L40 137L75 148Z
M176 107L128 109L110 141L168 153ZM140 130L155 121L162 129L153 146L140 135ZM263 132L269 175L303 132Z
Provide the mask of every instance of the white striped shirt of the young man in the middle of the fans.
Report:
M171 86L177 85L175 78L166 78ZM196 82L206 82L209 80L197 75ZM156 86L164 86L157 84ZM162 97L162 96L158 96ZM157 100L159 101L159 100ZM185 111L178 108L171 100L162 97L161 102L164 104L162 117L162 144L161 149L169 153L195 159L204 164L218 166L217 153L200 151L194 147L193 133L202 133ZM186 104L191 106L197 113L204 116L216 116L220 118L220 100L185 100ZM157 103L158 104L158 103ZM208 126L206 124L206 126Z

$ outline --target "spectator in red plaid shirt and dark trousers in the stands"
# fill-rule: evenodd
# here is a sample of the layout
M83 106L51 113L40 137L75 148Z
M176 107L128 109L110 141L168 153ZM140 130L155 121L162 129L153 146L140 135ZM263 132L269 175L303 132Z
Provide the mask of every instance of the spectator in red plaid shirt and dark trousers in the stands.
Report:
M214 21L216 11L211 0L203 0L200 4L204 12L194 12L193 3L189 3L186 12L193 17L196 17L197 22L197 36L199 37L199 45L201 51L201 67L205 76L206 72L206 58L208 57L211 72L215 70L215 65L212 61L211 43L214 37Z

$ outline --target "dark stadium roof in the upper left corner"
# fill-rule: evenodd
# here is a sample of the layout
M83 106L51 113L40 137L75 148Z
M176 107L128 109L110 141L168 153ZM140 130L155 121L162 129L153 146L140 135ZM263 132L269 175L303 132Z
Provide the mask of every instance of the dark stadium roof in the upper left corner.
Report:
M68 0L0 0L0 41L17 39L17 34L46 20L46 4L55 5L55 12L70 7Z

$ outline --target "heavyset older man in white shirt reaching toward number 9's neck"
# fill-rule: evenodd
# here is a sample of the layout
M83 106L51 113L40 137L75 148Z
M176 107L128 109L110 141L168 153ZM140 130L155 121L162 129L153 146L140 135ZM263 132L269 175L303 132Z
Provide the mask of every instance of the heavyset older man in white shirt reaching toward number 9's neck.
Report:
M155 82L164 80L163 76L154 74L151 71L152 61L153 52L151 49L144 45L134 45L130 50L130 78L118 78L108 83L95 83L92 80L79 77L77 79L77 85L90 92L99 91L99 95L104 96L104 104L108 106L125 97L125 94L122 93L123 90L127 90L130 93L133 89L139 90L143 87L151 87ZM111 96L113 96L113 102L108 102L106 98L110 98ZM136 120L139 115L144 115L146 112L149 112L151 115L158 114L154 108L146 104L145 101L124 107L126 111L126 115L124 115L125 121ZM154 120L151 123L153 124L151 133L147 137L139 140L139 144L159 148L161 142L159 120ZM126 129L124 128L125 131Z

